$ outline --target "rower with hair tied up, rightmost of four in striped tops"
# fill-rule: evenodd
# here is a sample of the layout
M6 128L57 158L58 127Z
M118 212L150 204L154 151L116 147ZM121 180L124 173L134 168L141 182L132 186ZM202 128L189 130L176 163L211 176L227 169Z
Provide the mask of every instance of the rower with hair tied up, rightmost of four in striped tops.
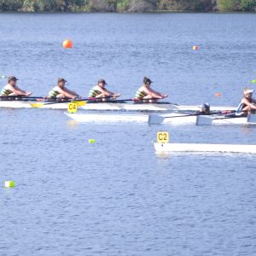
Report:
M137 90L135 100L143 102L157 102L158 99L164 99L167 97L166 94L162 94L150 88L152 81L148 78L143 79L143 86Z

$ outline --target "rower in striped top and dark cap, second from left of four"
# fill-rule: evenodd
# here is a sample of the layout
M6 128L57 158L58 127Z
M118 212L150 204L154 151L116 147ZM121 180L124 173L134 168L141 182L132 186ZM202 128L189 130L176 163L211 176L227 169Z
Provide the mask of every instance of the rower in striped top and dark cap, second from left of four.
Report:
M47 97L49 99L56 99L56 98L57 99L63 99L63 98L75 99L75 98L81 97L79 96L79 94L77 94L73 90L68 90L65 87L65 83L67 83L65 79L58 79L57 85L52 90L49 91L49 94Z

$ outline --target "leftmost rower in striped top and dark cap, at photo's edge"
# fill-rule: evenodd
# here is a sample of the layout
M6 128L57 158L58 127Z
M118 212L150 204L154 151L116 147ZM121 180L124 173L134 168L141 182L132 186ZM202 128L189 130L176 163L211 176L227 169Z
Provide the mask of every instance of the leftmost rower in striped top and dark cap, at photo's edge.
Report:
M21 90L17 86L17 79L14 76L9 77L8 84L6 84L1 90L0 96L31 96L31 91Z

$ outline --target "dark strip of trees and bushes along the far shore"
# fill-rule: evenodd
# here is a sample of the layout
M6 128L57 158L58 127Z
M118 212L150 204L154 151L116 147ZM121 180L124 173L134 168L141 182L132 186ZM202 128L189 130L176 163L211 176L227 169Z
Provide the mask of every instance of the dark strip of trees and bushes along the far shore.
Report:
M256 0L0 0L0 11L152 12L256 11Z

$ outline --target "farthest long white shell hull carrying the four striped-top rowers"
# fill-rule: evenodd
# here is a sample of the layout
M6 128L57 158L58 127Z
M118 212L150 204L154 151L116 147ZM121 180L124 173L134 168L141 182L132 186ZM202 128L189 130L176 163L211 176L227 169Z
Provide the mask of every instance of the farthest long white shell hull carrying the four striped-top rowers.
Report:
M32 108L31 103L22 101L0 101L0 108ZM43 105L40 108L67 109L68 103L56 103ZM79 109L100 110L100 111L142 111L142 112L166 112L172 110L192 110L197 111L198 106L175 105L171 103L109 103L109 102L88 102ZM235 107L212 106L214 111L234 110Z

